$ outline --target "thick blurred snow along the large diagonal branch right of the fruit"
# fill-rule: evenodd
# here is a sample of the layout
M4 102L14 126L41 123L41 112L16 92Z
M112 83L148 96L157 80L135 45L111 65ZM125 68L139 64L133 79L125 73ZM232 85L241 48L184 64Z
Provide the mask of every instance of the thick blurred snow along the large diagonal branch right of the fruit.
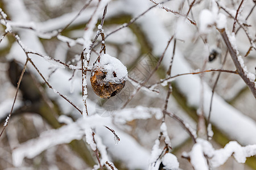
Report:
M137 4L137 1L129 1ZM138 7L138 6L137 6ZM142 7L144 8L144 7ZM143 9L141 9L143 10ZM133 15L133 11L130 11ZM161 56L168 42L169 33L160 20L155 19L154 13L148 12L139 20L139 24L148 41L153 44L152 50L155 56ZM151 27L154 25L154 27ZM152 36L154 35L154 36ZM172 42L170 46L172 46ZM166 56L172 56L172 48L167 49ZM169 67L170 58L164 57L163 65L166 69ZM192 70L189 63L185 60L180 49L176 47L175 58L172 65L172 75L189 73ZM193 107L200 107L201 80L198 75L179 76L175 79L177 87L186 97L187 103ZM189 82L189 84L188 84ZM210 98L212 90L204 83L204 113L208 116ZM220 118L221 117L221 118ZM240 111L226 103L220 96L213 96L213 107L210 122L217 126L223 133L228 135L230 139L236 139L242 145L256 143L256 125L255 121L245 116ZM233 126L236 124L237 126Z

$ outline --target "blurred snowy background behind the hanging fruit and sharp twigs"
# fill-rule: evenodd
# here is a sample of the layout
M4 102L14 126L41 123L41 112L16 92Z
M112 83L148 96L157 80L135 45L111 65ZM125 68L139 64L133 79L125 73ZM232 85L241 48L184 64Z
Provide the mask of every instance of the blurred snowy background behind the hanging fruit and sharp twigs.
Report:
M79 68L81 67L81 52L85 45L86 29L92 29L93 32L89 39L93 40L97 32L97 25L101 22L104 8L99 6L98 2L2 0L0 1L0 7L7 14L7 19L13 22L11 24L13 32L19 35L20 40L26 46L25 49L28 51L34 50L33 53L39 52L44 56L55 58ZM108 151L109 158L118 169L147 169L148 167L148 164L144 163L148 163L152 147L155 140L158 139L160 125L162 124L162 116L157 116L151 108L157 108L157 112L162 114L161 111L164 108L168 94L168 86L158 82L168 77L167 70L173 56L174 46L172 76L211 69L236 70L229 54L226 54L226 46L214 24L209 25L207 29L201 28L201 11L207 8L212 10L213 1L157 1L157 3L161 2L164 7L171 9L170 11L163 9L161 5L156 6L154 2L149 0L109 2L103 26L106 37L106 52L118 58L127 67L129 80L126 81L125 88L109 100L101 99L94 94L92 87L90 87L90 72L87 73L89 114L98 114L102 118L110 118L117 131L122 131L119 135L121 141L118 145L122 146L122 143L127 142L125 142L127 135L129 140L136 143L134 145L138 145L138 148L143 150L144 155L147 155L141 158L140 163L133 162L130 157L133 157L137 152L131 152L129 155L129 152L124 151L133 150L133 147L129 147L129 141L121 150L121 148L113 145L113 134L110 131L105 129L106 134L104 134L102 130L98 130L102 143ZM88 6L79 13L87 3ZM232 32L234 16L241 1L218 1L218 3L220 3L220 6L216 8L226 15L226 29ZM191 7L190 11L189 7ZM255 49L252 48L248 53L251 43L255 45L256 10L254 7L255 1L243 3L242 12L238 19L240 23L243 23L243 27L246 27L246 31L240 28L240 24L237 24L235 37L237 49L247 69L255 75ZM174 11L177 11L177 13ZM79 16L74 18L77 14ZM90 22L93 20L93 16L97 18L95 24ZM134 18L135 22L132 20ZM196 25L192 24L187 18L195 21ZM65 28L71 21L73 21L72 24ZM132 23L128 27L113 32L130 22ZM94 26L91 27L88 23L93 23ZM3 17L1 17L1 36L5 33L6 28ZM54 31L61 28L65 29L57 36L53 36ZM109 33L112 34L109 35ZM249 40L248 35L252 37L252 41ZM155 73L151 75L152 70L158 66L159 58L170 39L171 44L168 46L163 61ZM98 57L101 48L100 42L101 37L96 42L98 45L93 48L90 66ZM97 159L95 153L86 144L85 138L79 140L74 138L72 142L63 142L63 144L48 147L36 156L29 156L28 154L24 156L26 158L19 167L14 166L13 152L16 148L21 146L29 152L30 143L28 141L33 143L38 139L40 140L40 134L71 124L71 122L82 117L81 113L55 92L56 90L67 96L75 105L82 108L81 70L72 69L72 66L60 66L58 62L49 61L50 59L44 56L29 55L31 55L36 67L54 90L48 88L47 83L34 67L28 64L20 84L13 115L0 138L0 169L92 169L93 165L97 164ZM178 61L176 58L181 60ZM0 43L0 120L2 128L13 105L16 83L25 61L26 55L22 48L16 42L14 36L8 33ZM141 88L133 99L125 105L137 90L139 83L144 82L148 76L151 77L146 83L146 87ZM179 77L183 77L183 79L179 79ZM208 99L210 99L214 88L214 95L217 96L214 101L220 101L223 106L214 105L213 102L213 122L212 120L210 122L212 122L214 134L210 143L216 149L224 147L229 141L237 141L241 145L255 144L256 134L253 133L253 130L250 131L250 126L246 131L248 138L240 136L244 133L242 130L232 131L232 129L239 129L239 127L246 130L246 127L242 127L246 124L240 125L239 121L236 122L230 119L233 115L232 112L236 112L236 115L242 115L241 121L245 119L254 126L256 121L256 100L239 75L210 71L204 74L182 75L179 77L170 83L172 93L168 98L168 112L179 116L197 132L202 130L198 124L200 122L199 117L201 113L205 114L206 116L203 117L205 120L203 121L203 131L205 131L205 122L207 122L209 113ZM194 77L196 78L194 79ZM214 87L216 79L218 79L217 85ZM152 86L155 83L158 84ZM202 84L205 87L203 91L201 90ZM191 93L186 90L191 91ZM124 105L125 108L122 108ZM142 107L142 109L138 107ZM129 108L135 109L129 110ZM140 113L143 112L147 112L147 114L145 113L146 116L136 116L136 114L141 115ZM225 114L228 112L230 114ZM118 115L121 113L123 115L127 113L128 116L126 118L121 116L118 119ZM191 163L181 156L183 152L191 151L192 138L175 119L167 116L165 122L168 136L171 139L171 152L176 155L180 169L193 169ZM223 122L226 122L226 125ZM94 130L97 134L97 128ZM70 132L67 131L68 133ZM199 137L203 138L205 135L205 133L202 136L199 134ZM47 138L47 135L44 138ZM55 140L52 136L49 139ZM111 145L109 145L110 139L113 141ZM43 146L43 141L41 142ZM164 145L160 145L160 147L163 148ZM36 150L34 147L32 149ZM138 155L141 152L138 150ZM240 164L231 157L224 165L213 169L256 169L256 159L254 156L247 159L245 164Z

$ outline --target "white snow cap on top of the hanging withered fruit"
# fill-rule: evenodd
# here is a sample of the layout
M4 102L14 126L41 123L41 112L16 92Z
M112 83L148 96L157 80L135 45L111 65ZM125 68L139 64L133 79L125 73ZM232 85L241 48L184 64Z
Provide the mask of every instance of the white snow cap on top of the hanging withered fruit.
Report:
M96 62L93 66L93 70L101 68L102 71L106 72L105 82L111 83L122 83L127 79L128 72L126 66L123 63L109 54L102 54L100 62Z

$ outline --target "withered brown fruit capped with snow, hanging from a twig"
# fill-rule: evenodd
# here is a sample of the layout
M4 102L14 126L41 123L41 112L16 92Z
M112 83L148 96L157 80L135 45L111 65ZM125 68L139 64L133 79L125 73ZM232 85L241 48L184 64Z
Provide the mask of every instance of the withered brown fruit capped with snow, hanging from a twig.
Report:
M109 99L118 94L127 79L127 69L119 59L102 54L92 68L90 83L96 95Z

